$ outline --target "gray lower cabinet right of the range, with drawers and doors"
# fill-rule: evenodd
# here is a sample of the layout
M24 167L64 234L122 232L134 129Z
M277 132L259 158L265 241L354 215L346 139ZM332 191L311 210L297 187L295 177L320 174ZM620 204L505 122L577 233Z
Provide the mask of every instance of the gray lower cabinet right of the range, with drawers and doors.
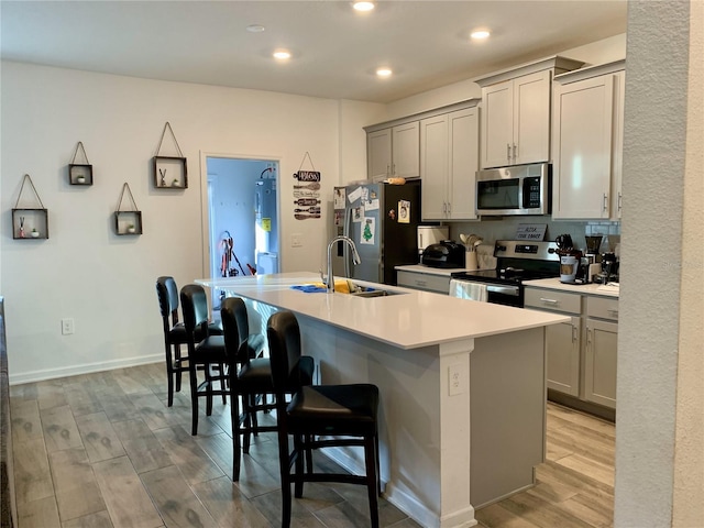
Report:
M546 329L548 388L615 409L618 299L527 286L525 307L571 316Z

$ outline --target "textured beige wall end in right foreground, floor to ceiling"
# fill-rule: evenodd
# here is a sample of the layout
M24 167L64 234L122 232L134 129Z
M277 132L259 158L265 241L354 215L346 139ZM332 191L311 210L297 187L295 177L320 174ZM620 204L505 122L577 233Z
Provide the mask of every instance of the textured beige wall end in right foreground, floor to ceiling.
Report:
M703 15L700 0L629 2L617 527L704 522Z

